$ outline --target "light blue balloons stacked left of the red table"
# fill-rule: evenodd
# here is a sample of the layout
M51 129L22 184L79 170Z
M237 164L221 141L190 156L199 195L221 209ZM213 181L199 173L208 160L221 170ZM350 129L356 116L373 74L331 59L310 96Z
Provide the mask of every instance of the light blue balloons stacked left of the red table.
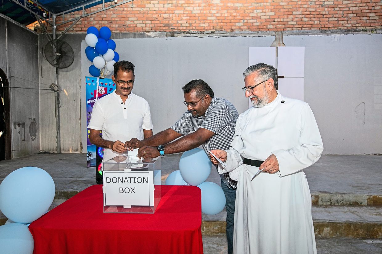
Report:
M28 225L46 213L54 195L52 177L38 167L22 167L4 178L0 210L8 220L0 226L1 253L32 254L34 241Z

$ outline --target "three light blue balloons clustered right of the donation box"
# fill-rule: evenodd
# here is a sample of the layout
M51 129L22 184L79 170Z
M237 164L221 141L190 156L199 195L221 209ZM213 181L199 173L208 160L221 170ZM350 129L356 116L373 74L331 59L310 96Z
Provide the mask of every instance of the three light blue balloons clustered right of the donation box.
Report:
M202 191L202 212L215 215L225 206L225 195L216 183L204 182L211 173L212 163L200 148L182 154L179 170L173 171L166 179L166 185L193 185Z

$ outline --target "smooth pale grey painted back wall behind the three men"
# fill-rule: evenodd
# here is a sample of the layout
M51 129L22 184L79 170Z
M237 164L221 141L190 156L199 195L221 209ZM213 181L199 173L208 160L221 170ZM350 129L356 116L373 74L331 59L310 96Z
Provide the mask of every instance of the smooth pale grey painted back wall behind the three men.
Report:
M240 88L248 47L269 47L273 40L274 36L115 39L120 59L136 66L134 93L149 102L154 133L170 127L186 110L181 87L191 79L204 79L216 96L230 100L240 113L246 110L248 100ZM286 46L305 47L304 98L316 116L324 153L382 153L381 42L381 34L284 35ZM91 64L85 48L83 41L82 78L89 75ZM84 90L81 98L85 100ZM81 111L84 115L84 106ZM83 144L85 125L83 117Z

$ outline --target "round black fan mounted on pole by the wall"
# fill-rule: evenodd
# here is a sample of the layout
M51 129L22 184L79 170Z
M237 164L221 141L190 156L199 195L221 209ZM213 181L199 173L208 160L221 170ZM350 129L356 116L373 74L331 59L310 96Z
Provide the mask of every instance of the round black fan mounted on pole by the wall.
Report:
M44 58L56 68L67 68L74 61L74 52L63 40L55 39L44 47Z

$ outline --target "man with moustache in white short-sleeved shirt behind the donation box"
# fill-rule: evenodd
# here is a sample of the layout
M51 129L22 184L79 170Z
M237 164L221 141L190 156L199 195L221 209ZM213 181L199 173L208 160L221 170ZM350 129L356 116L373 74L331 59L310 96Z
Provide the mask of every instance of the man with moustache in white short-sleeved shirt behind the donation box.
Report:
M114 92L100 98L93 106L87 128L89 140L105 148L102 163L126 151L131 138L152 136L150 107L147 101L131 92L134 87L134 64L119 61L114 64ZM102 130L102 138L99 136Z

